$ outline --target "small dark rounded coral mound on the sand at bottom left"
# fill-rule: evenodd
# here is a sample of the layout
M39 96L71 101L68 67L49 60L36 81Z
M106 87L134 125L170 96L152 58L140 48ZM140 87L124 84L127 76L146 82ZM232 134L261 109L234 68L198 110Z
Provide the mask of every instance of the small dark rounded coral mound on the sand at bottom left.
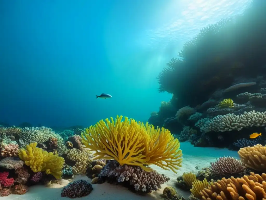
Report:
M63 188L61 197L85 197L90 194L92 190L92 185L88 181L80 179L68 183L68 185Z

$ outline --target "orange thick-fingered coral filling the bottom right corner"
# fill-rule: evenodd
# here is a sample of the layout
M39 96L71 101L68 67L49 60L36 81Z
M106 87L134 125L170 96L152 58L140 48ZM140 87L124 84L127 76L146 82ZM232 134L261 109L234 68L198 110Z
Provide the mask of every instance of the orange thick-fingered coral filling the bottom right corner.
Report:
M200 191L203 200L265 199L266 174L250 173L242 178L222 178Z

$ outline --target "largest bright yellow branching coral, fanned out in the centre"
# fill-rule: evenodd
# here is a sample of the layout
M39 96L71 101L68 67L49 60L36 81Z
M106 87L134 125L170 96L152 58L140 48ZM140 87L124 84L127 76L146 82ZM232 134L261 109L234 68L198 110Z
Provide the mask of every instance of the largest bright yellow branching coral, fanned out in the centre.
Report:
M152 170L144 166L148 164L173 171L181 167L180 143L169 130L122 118L117 116L114 121L111 117L106 123L101 120L82 134L84 145L96 151L95 159L115 159L120 165L140 166L146 171Z

